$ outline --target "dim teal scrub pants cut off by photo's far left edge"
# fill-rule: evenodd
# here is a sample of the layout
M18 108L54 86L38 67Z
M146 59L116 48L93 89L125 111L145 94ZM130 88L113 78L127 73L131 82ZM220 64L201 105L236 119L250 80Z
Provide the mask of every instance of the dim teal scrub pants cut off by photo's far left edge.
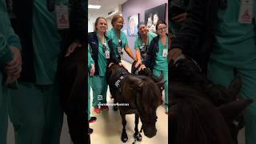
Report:
M2 82L2 74L0 73L0 82ZM6 144L6 134L8 127L8 90L6 86L0 84L0 143Z

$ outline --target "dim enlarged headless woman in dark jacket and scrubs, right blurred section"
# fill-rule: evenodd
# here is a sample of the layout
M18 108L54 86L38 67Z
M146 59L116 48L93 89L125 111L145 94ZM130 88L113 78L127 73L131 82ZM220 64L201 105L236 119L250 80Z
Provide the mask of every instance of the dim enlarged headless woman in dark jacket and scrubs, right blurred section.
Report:
M202 47L197 47L193 52L194 55L197 51L209 52L209 58L202 59L208 62L208 78L215 84L228 88L230 82L239 76L242 78L242 98L255 99L255 8L256 2L253 0L191 1L188 10L190 16L184 23L180 35L172 41L171 58L175 59L179 54L187 53L189 46L194 44L193 40L201 37ZM246 11L250 12L250 16L244 19ZM254 144L256 103L250 104L243 114L246 122L246 144Z

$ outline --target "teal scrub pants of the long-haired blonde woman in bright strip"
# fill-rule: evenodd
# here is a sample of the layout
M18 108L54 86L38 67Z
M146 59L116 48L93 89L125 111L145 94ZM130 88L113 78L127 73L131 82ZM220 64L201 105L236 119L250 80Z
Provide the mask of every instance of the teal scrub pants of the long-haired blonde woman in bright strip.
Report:
M99 102L106 103L106 76L91 77L90 86L93 90L93 106L97 107Z

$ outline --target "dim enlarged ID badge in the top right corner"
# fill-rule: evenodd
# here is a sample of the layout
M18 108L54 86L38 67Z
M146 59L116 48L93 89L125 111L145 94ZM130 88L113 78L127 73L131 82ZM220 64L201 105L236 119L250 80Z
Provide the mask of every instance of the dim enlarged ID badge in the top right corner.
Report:
M253 6L254 6L253 0L242 0L241 1L238 22L247 23L247 24L252 23L252 20L254 18Z

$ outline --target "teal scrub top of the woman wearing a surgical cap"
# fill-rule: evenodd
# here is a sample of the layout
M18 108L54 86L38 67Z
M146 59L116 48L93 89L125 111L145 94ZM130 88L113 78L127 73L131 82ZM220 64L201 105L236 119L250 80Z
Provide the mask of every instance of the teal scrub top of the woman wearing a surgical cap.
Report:
M154 34L153 32L148 32L147 33L147 43L144 43L143 45L143 42L142 42L142 38L140 36L138 36L136 39L135 39L135 42L134 42L134 49L135 50L140 50L140 51L145 51L145 46L149 46L150 45L150 42L152 41L152 39L154 37L157 37L158 34Z

